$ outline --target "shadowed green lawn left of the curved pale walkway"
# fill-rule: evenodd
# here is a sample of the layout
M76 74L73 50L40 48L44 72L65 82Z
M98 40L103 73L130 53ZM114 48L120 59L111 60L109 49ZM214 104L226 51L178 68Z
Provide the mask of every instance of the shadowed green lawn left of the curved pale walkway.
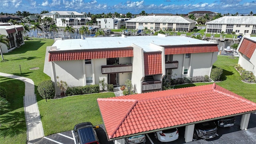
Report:
M26 144L27 127L23 107L25 83L2 76L0 82L7 90L6 99L10 103L9 111L0 112L0 143Z

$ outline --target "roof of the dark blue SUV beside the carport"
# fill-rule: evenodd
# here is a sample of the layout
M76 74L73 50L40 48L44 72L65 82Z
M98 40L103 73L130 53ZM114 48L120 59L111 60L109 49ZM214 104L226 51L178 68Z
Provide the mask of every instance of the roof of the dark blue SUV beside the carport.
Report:
M82 144L96 141L92 126L85 126L79 128L77 131Z

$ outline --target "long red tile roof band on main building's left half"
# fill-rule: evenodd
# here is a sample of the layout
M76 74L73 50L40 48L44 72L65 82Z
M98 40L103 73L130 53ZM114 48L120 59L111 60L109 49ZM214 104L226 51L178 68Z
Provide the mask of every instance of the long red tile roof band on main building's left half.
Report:
M96 58L122 58L133 57L133 48L105 49L105 50L79 50L79 51L49 51L48 61L86 60Z

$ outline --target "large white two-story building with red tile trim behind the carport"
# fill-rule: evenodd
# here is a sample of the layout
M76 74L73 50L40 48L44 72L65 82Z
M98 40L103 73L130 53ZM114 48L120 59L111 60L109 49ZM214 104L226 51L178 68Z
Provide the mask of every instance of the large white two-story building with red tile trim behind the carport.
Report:
M102 79L122 85L130 79L142 93L161 90L166 73L170 78L210 76L217 52L216 43L163 34L56 40L47 47L44 73L55 84L63 80L70 86Z

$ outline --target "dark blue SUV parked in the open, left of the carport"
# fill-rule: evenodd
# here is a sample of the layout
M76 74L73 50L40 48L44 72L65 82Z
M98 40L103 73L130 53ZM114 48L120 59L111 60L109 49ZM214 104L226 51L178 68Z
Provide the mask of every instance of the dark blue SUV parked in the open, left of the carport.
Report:
M82 122L74 126L76 144L99 144L97 134L91 122Z

